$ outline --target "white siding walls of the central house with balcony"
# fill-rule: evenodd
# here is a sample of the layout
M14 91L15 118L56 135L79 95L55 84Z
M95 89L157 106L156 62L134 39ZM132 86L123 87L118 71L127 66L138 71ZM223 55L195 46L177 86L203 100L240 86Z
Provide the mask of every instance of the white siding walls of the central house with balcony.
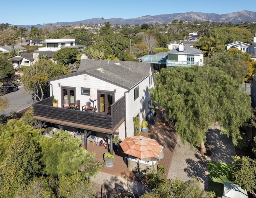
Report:
M150 74L151 70L150 70ZM58 84L60 83L60 87ZM134 135L134 126L133 126L133 117L140 113L140 120L146 119L146 114L148 113L148 101L150 100L151 96L148 93L148 89L154 87L153 76L152 76L152 84L149 87L149 77L145 78L142 82L140 82L137 86L139 86L139 97L134 101L134 86L130 90L130 92L125 93L128 91L120 86L116 86L104 80L100 80L90 75L78 75L78 76L70 76L67 78L62 78L59 80L52 80L50 81L50 93L51 96L54 97L59 101L59 107L61 107L61 86L67 87L75 87L76 88L76 100L80 100L81 106L85 105L86 102L89 101L90 96L85 96L81 94L81 87L83 88L96 88L97 90L106 90L113 92L116 89L116 93L114 94L115 101L126 94L126 129L127 129L127 136ZM53 92L52 92L53 90ZM97 100L94 102L94 105L97 105ZM98 105L97 105L97 108ZM120 138L125 138L125 126L124 123L120 125L118 128Z

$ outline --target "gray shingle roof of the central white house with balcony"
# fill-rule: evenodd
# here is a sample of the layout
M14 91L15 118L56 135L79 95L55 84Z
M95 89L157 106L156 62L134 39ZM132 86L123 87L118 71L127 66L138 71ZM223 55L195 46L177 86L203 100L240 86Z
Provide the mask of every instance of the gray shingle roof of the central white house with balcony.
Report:
M123 88L130 89L142 79L146 78L149 75L150 69L150 63L82 59L77 72L52 80L79 74L88 74Z

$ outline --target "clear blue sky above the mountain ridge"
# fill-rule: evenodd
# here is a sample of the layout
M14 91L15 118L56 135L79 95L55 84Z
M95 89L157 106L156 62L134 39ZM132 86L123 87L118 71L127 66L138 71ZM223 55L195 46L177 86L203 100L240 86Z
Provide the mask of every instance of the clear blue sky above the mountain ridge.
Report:
M256 12L254 0L12 0L1 2L1 23L54 24L91 18L137 18L146 15L203 12L229 14Z

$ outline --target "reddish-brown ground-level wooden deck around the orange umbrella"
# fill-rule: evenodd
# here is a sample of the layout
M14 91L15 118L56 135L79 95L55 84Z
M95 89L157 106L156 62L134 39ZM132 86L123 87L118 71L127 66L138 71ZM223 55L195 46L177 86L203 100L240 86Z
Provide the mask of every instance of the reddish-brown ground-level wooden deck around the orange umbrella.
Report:
M172 163L172 156L176 145L177 133L174 130L173 125L167 126L162 123L161 112L161 110L158 110L157 115L154 116L155 124L148 126L147 132L140 132L140 135L155 139L160 145L164 146L164 158L161 159L159 163L164 165L165 167L166 174L164 175L164 178L166 178L170 169L170 165ZM98 146L96 144L94 144L93 146L93 143L89 142L88 151L95 152L95 159L100 162L104 162L103 154L107 152L107 150L103 146ZM126 154L122 151L121 147L119 147L118 150L113 150L113 154L115 156L113 167L104 166L101 169L102 172L121 176L124 178L129 178L132 180L142 181L144 179L136 178L135 172L128 170L126 163L124 162L124 157L126 156Z

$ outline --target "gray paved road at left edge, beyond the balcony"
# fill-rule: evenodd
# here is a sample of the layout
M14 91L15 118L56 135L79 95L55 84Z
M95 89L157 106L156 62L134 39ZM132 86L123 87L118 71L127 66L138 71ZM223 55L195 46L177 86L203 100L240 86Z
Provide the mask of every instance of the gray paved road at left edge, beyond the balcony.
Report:
M4 96L9 99L10 106L5 109L4 112L0 112L0 114L6 114L6 116L9 116L14 111L18 112L22 109L30 107L30 105L34 103L32 96L26 92L23 87L20 87L20 89L16 92L10 92Z

